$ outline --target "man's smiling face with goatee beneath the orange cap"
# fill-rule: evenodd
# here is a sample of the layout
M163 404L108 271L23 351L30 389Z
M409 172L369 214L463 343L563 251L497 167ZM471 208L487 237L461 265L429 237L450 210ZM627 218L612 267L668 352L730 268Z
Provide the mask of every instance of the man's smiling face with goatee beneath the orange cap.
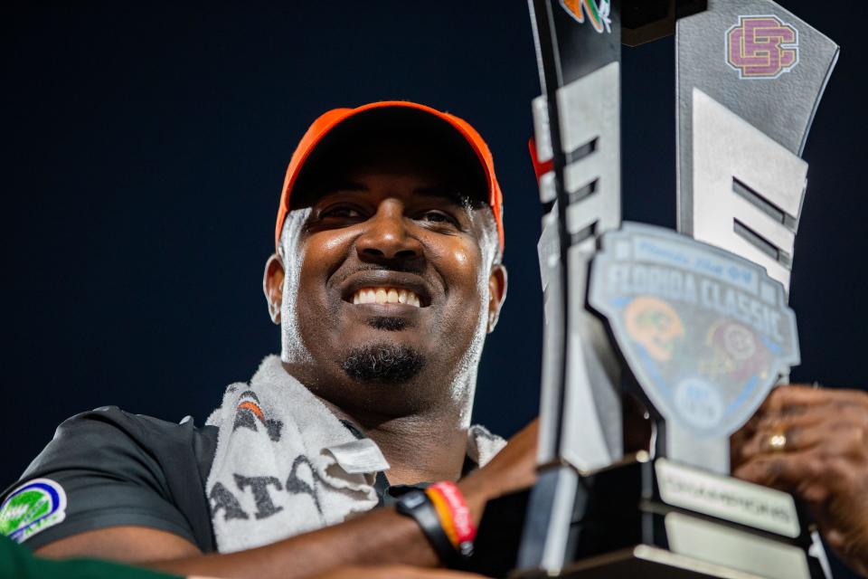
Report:
M505 270L491 210L455 166L410 139L380 139L293 194L286 276L269 261L267 295L289 372L344 410L469 412Z

